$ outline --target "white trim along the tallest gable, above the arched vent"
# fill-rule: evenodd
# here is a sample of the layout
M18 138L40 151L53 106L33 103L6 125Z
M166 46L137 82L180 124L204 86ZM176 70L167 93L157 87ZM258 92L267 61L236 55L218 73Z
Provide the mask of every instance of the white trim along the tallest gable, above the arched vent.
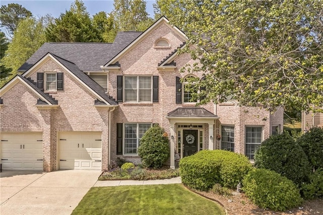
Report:
M109 62L107 62L103 67L107 67L110 64L114 64L118 61L118 59L120 59L123 55L125 55L125 53L127 53L135 44L137 44L138 42L140 42L141 40L144 39L144 37L149 34L151 31L153 31L155 28L157 28L161 23L165 23L167 25L169 25L169 20L167 18L165 18L164 16L161 17L159 20L157 20L154 24L152 24L149 28L147 28L142 34L140 34L139 37L137 37L137 39L135 39L132 43L130 43L126 48L124 48L121 52L118 53L118 55L116 55L113 59L111 59ZM188 40L187 36L184 34L183 31L181 31L180 29L178 29L176 26L171 26L170 27L174 28L177 33L186 41Z

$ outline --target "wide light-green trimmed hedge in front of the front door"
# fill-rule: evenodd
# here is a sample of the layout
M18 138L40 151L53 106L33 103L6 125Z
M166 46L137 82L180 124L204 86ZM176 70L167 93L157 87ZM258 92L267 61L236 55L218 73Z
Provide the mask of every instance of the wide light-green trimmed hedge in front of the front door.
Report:
M182 183L197 190L208 190L219 183L235 188L251 170L248 158L225 150L202 150L180 160Z

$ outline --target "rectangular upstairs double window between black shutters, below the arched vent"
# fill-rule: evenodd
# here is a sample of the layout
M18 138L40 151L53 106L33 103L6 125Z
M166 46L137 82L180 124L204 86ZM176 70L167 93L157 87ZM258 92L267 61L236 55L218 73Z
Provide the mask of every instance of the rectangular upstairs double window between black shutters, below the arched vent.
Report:
M152 76L125 76L125 102L151 102Z

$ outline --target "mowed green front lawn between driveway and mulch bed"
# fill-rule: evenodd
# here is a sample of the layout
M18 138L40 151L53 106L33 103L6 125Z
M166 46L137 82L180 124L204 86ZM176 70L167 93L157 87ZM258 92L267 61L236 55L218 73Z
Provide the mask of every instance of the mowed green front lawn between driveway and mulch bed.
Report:
M92 187L72 214L225 214L181 184Z

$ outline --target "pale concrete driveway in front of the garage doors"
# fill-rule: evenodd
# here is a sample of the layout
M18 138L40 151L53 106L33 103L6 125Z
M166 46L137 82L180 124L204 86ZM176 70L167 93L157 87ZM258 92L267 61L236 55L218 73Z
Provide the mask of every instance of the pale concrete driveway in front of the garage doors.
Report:
M0 213L71 214L100 174L87 170L3 171L0 173Z

